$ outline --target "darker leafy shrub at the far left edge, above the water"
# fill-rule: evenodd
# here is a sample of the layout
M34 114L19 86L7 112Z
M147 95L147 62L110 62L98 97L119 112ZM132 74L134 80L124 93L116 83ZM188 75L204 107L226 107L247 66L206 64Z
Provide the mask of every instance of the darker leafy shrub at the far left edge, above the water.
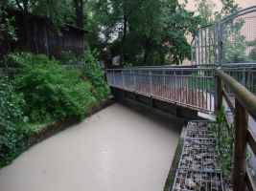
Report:
M22 148L22 96L15 94L7 77L0 76L0 166L8 163Z

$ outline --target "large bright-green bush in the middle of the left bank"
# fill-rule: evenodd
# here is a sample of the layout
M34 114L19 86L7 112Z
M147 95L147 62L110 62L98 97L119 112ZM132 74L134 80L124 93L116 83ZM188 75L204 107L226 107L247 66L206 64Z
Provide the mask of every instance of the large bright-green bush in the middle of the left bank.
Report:
M91 85L81 74L42 54L12 54L18 66L14 86L26 101L24 113L32 122L47 122L70 116L84 117L96 100Z

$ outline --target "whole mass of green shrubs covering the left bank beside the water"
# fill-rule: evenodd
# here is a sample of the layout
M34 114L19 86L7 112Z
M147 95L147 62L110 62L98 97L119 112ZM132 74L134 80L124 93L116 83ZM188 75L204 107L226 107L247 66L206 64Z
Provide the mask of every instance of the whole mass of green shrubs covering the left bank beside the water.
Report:
M109 95L104 72L86 51L65 68L42 54L10 53L2 65L12 67L0 77L0 166L28 148L24 141L54 121L91 113Z

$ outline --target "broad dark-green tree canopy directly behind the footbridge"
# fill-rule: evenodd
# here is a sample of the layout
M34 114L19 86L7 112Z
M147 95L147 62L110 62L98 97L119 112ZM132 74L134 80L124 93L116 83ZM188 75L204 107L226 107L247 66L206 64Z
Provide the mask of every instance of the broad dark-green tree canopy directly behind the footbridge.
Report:
M95 3L105 45L121 63L178 64L190 54L185 35L198 17L177 0L99 0Z

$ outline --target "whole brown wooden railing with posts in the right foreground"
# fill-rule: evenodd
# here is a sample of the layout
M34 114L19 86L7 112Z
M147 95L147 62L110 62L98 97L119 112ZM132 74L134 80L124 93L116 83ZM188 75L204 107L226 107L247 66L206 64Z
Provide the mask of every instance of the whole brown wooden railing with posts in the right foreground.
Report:
M234 115L235 140L234 140L234 163L233 163L233 190L244 191L256 190L256 184L246 166L247 146L251 148L256 156L256 138L248 129L248 115L256 120L256 96L250 93L243 85L238 83L230 75L225 74L221 69L216 69L218 104L217 109L222 107L222 100L226 101L230 111ZM232 98L225 92L223 85L227 86L235 98L235 105Z

